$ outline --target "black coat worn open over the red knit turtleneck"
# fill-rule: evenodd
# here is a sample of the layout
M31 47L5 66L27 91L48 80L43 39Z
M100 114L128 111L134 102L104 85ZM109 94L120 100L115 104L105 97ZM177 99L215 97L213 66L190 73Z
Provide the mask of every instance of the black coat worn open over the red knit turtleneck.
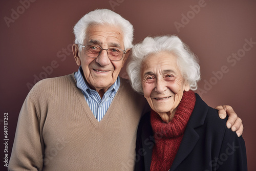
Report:
M227 129L226 121L196 94L194 111L170 170L247 170L245 142ZM155 141L147 113L138 127L135 170L150 170Z

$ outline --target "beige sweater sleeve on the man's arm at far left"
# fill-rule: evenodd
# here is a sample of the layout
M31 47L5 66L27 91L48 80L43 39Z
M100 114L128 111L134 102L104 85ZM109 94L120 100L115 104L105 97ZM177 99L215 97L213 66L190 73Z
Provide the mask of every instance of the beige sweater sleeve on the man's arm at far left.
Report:
M40 115L32 94L28 94L19 113L8 170L42 170L44 145L40 138Z

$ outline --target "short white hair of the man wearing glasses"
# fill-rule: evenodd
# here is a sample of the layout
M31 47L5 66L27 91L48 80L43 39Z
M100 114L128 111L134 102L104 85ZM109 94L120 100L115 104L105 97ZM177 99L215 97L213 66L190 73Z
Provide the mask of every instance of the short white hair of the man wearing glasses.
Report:
M133 47L133 25L119 14L108 9L91 11L77 22L74 26L75 44L84 45L87 28L92 25L110 25L119 27L123 34L124 50Z

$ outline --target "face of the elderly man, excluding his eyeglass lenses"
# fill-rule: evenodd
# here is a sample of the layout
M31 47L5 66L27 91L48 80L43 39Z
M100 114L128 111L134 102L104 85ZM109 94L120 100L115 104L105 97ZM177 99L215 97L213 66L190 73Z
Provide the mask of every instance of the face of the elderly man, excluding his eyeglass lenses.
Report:
M87 29L84 45L97 45L102 49L114 47L124 50L123 34L118 27L90 26ZM78 56L80 61L76 59L76 62L78 66L82 66L87 83L100 94L106 92L114 84L129 53L124 54L119 61L110 60L105 50L102 50L97 58L86 56L83 50L78 53Z

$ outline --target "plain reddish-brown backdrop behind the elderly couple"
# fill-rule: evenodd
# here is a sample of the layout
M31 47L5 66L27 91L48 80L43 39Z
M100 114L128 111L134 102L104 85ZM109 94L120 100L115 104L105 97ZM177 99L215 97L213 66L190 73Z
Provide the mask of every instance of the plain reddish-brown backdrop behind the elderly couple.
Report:
M229 104L242 118L248 170L256 168L253 160L256 45L245 45L245 39L256 42L255 1L30 1L25 5L22 2L28 0L0 2L0 168L4 168L1 170L7 170L2 161L4 113L8 112L10 157L18 114L29 92L28 84L77 71L70 53L74 41L72 28L80 17L97 8L111 9L129 20L135 28L135 43L147 35L162 34L176 34L186 42L200 59L199 88L205 91L201 92L202 98L213 107ZM200 3L202 7L196 8ZM12 21L9 24L5 21L7 17ZM175 22L183 26L177 29ZM247 51L243 50L244 45ZM239 60L229 57L235 53L240 54ZM226 66L224 71L223 66ZM120 75L127 77L124 71Z

